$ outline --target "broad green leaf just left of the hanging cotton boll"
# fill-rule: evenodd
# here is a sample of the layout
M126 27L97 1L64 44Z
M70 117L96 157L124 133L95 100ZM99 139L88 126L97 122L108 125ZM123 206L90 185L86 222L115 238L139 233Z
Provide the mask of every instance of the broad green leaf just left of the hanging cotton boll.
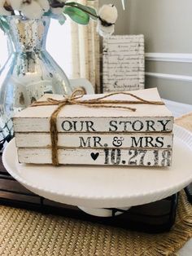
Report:
M89 15L77 7L65 7L63 12L78 24L89 24Z

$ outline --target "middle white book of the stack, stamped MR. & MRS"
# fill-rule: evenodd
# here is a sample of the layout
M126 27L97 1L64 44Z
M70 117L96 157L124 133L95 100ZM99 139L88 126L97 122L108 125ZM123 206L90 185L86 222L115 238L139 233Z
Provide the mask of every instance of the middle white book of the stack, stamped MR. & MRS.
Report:
M60 148L172 148L171 133L59 133ZM17 148L50 148L49 133L15 133Z

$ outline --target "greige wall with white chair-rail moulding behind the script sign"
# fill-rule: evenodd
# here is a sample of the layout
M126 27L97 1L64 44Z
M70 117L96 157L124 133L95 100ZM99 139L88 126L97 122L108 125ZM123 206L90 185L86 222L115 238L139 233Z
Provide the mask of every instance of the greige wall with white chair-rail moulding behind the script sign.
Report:
M192 0L125 0L126 11L120 0L100 2L118 7L116 34L145 35L151 57L146 58L146 87L157 86L162 97L192 104Z

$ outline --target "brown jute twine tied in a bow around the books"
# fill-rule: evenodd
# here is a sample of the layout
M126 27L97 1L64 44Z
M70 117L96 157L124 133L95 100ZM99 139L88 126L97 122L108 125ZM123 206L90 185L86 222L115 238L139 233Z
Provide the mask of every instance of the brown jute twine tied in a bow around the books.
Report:
M80 95L76 95L79 93ZM89 108L116 108L124 109L135 112L137 108L130 108L127 106L118 106L116 104L151 104L151 105L164 105L162 101L149 101L142 99L136 95L129 92L113 92L107 95L103 95L96 99L81 99L85 95L85 90L76 89L70 97L66 96L64 99L52 99L48 98L46 101L36 101L31 107L37 106L53 106L57 105L58 108L55 109L54 113L50 116L50 138L51 138L51 153L52 153L52 164L54 166L59 166L58 159L58 129L57 129L57 117L61 109L66 105L81 105ZM119 100L119 99L107 99L112 95L129 95L137 100ZM81 100L78 100L81 99Z

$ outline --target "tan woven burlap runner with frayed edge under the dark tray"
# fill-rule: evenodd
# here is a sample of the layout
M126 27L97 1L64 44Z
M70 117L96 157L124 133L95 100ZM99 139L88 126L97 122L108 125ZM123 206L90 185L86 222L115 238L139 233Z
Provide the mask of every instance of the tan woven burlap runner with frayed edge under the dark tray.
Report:
M192 130L192 113L176 122ZM0 206L1 256L176 255L190 237L192 205L185 192L172 231L159 235Z

